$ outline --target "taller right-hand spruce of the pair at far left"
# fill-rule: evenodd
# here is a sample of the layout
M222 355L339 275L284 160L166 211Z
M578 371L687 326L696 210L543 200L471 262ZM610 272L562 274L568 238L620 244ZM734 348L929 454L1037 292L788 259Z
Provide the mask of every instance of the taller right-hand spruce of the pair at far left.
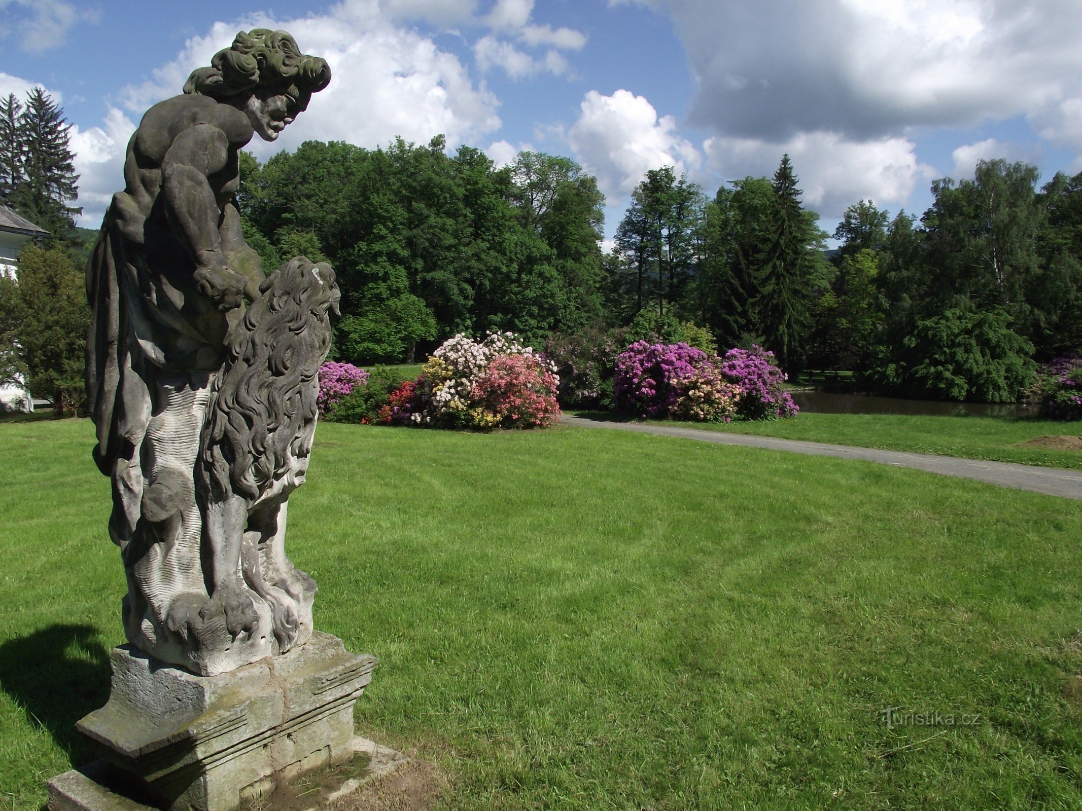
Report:
M79 195L79 175L69 146L71 125L63 110L41 88L26 97L18 119L22 133L24 182L14 195L15 207L54 238L75 236L72 217L82 209L68 205Z

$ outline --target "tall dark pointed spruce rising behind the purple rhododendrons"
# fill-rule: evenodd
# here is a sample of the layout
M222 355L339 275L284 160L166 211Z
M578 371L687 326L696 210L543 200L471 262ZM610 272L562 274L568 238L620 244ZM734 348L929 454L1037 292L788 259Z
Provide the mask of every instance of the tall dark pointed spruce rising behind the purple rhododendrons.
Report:
M809 249L819 229L801 207L801 190L789 156L774 174L774 205L769 216L769 241L755 280L760 288L758 311L767 347L782 368L797 371L803 343L812 329L812 277L815 270Z

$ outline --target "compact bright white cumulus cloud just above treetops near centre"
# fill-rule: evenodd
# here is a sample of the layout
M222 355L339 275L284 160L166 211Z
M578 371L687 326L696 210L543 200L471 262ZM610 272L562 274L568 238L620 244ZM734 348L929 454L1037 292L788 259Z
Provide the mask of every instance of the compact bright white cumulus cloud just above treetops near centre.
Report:
M672 165L679 173L701 161L672 116L658 118L654 105L626 90L610 96L588 92L566 137L607 197L630 194L647 170Z

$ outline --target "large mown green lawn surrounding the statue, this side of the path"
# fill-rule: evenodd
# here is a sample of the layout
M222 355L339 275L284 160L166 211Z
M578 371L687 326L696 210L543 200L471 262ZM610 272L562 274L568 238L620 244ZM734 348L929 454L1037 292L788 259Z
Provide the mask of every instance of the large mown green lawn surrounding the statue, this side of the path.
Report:
M0 439L0 801L28 811L85 756L123 577L90 424ZM290 516L317 626L382 660L359 731L435 762L444 808L1082 806L1080 503L612 431L321 425Z

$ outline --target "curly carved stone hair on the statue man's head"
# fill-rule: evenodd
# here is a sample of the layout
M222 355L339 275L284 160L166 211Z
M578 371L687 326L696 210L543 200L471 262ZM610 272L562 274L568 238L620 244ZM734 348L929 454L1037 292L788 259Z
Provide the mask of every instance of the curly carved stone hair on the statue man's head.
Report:
M185 93L232 98L260 84L280 88L294 99L306 99L331 80L326 59L301 53L286 31L254 28L240 31L229 48L214 54L210 67L197 68L184 83Z

